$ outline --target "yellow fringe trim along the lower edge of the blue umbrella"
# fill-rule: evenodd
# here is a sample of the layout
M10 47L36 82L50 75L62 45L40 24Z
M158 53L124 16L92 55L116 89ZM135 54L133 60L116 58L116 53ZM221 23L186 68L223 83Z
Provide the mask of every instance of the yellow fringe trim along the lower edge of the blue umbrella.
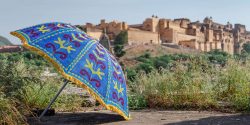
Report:
M76 79L75 77L72 77L70 75L68 75L67 73L65 73L62 68L52 59L50 58L50 56L48 56L46 53L44 53L43 51L41 51L40 49L37 49L33 46L30 46L26 40L26 38L18 33L18 32L11 32L10 33L13 36L18 37L19 39L21 39L23 46L29 50L35 51L37 52L39 55L41 55L42 57L44 57L45 59L47 59L49 62L51 62L53 64L53 66L58 70L58 72L60 74L62 74L63 77L65 77L67 80L72 81L74 83L76 83L77 85L79 85L80 87L83 87L84 89L86 89L90 95L92 95L96 100L98 100L100 102L101 105L103 105L104 107L106 107L108 110L117 112L119 115L123 116L124 119L126 120L130 120L130 115L126 116L125 113L123 113L120 109L118 109L117 107L113 106L113 105L108 105L105 104L104 101L102 100L102 98L100 98L92 89L90 89L88 86L86 86L85 84L82 84L82 82L78 79Z

